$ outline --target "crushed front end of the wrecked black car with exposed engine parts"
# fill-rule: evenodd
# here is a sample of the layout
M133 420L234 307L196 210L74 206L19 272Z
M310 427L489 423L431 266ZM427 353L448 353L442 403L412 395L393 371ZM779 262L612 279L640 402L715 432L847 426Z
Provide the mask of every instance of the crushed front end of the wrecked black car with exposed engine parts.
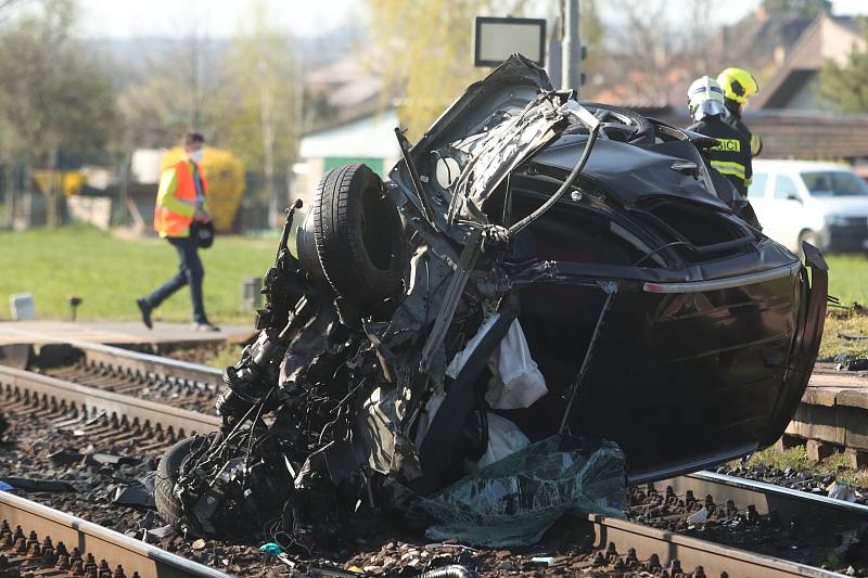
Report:
M306 260L303 247L290 254L301 205L288 211L264 283L266 306L257 311L259 337L224 375L219 436L191 446L194 459L178 459L177 486L163 494L179 501L176 510L197 531L238 531L239 518L251 527L273 522L294 543L310 548L342 534L341 502L376 508L378 476L408 484L426 497L431 513L461 505L470 518L451 519L454 525L470 528L481 516L476 524L503 526L507 535L488 538L498 543L532 540L566 511L618 515L607 505L620 503L624 489L616 446L588 452L560 437L531 444L516 423L496 413L526 409L549 389L519 322L511 270L501 266L515 231L484 211L516 167L569 126L585 126L586 153L561 184L565 191L587 160L599 121L521 56L488 81L518 81L522 99L528 98L503 102L502 114L474 128L476 134L456 136L446 145L463 155L464 165L448 190L432 189L427 170L424 190L417 159L397 132L418 193L407 201L421 203L424 219L409 205L398 210L396 227L412 229L399 233L406 246L392 247L405 275L374 306L353 303L352 291L327 290L322 281L332 281L323 279L321 256ZM559 196L516 224L532 222ZM322 236L316 228L302 230ZM322 239L316 240L319 252ZM486 380L487 393L480 395ZM261 419L269 412L276 413L272 423ZM455 481L467 472L474 474ZM126 488L116 499L137 501L137 491ZM486 513L474 514L474 508ZM450 527L448 516L435 517ZM482 539L467 531L469 541Z

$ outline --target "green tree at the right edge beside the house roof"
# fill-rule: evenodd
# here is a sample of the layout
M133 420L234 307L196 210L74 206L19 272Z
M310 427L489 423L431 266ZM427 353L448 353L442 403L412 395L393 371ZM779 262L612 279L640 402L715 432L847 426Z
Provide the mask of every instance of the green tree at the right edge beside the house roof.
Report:
M866 48L853 50L846 62L828 60L820 68L820 104L842 113L868 112L868 26L863 21Z

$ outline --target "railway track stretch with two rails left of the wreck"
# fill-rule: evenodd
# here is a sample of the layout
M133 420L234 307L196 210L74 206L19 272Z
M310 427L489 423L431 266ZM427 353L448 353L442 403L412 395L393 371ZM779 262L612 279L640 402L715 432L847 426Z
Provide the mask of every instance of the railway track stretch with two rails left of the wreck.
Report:
M10 415L43 416L143 453L220 424L208 414L222 383L214 368L88 343L43 345L38 355L24 346L5 357L0 410Z

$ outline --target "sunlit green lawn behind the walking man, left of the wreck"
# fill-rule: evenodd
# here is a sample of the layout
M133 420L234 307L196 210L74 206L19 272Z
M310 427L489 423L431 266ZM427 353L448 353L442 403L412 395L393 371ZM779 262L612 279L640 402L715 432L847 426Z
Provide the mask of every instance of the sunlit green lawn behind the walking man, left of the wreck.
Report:
M275 240L218 236L201 251L205 310L215 323L247 323L241 309L245 277L263 277L273 260ZM78 295L81 320L140 319L136 297L178 270L175 248L159 239L127 240L90 227L0 232L0 319L9 319L9 296L33 293L39 319L68 319L68 295ZM154 313L163 321L190 321L184 287Z

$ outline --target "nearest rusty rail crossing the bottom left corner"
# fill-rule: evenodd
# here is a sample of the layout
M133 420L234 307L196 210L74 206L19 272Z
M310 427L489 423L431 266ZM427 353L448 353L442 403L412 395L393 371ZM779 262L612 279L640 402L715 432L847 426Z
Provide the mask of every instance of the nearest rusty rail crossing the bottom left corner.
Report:
M25 536L36 532L40 543L48 537L50 543L63 542L71 552L75 548L81 556L92 554L98 562L106 561L112 569L119 565L125 576L229 578L228 574L9 492L0 492L0 519L11 528L21 526Z

